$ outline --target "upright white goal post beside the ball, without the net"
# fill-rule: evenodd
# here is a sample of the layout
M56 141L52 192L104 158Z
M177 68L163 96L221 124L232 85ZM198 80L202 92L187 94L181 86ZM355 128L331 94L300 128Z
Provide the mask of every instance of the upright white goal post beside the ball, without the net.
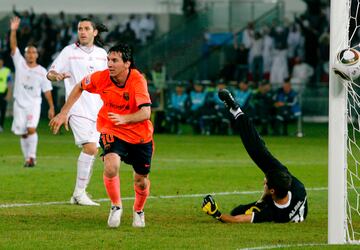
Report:
M328 243L346 243L347 89L333 72L336 54L349 47L351 0L331 0L328 141Z

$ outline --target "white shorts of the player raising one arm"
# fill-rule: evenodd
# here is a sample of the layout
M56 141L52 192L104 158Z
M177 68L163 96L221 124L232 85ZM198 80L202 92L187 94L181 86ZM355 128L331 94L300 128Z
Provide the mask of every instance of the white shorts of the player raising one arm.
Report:
M23 108L14 101L14 120L11 131L16 135L27 134L27 128L36 128L39 124L41 105Z

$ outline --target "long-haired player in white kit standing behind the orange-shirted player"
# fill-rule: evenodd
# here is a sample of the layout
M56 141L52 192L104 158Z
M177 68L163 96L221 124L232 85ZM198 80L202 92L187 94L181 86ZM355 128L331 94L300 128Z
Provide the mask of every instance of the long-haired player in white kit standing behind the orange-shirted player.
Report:
M101 48L103 43L99 36L102 31L107 31L103 25L95 24L87 18L80 20L78 41L65 47L51 65L47 78L50 81L64 80L66 98L85 76L107 68L107 53ZM71 204L99 205L88 197L86 187L99 147L100 134L96 130L96 119L101 106L98 94L84 91L69 112L68 120L75 144L82 147L77 161L77 178Z

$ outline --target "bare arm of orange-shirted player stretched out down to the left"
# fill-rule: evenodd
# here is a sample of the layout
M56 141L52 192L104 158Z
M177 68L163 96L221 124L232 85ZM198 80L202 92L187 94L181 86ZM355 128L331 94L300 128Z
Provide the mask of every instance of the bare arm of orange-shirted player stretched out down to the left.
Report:
M59 132L61 125L64 124L65 129L69 130L68 127L68 113L74 103L80 98L82 93L81 83L75 85L73 90L71 91L68 99L66 100L64 106L62 107L59 114L57 114L54 118L51 119L49 126L54 134Z

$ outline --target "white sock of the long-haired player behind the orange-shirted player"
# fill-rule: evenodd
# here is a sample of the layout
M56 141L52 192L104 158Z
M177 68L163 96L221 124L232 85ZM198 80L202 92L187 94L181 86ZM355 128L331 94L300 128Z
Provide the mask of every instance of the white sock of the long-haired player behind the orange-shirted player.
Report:
M74 196L78 196L85 192L85 189L90 181L91 170L94 164L95 156L81 152L77 162L77 176Z

